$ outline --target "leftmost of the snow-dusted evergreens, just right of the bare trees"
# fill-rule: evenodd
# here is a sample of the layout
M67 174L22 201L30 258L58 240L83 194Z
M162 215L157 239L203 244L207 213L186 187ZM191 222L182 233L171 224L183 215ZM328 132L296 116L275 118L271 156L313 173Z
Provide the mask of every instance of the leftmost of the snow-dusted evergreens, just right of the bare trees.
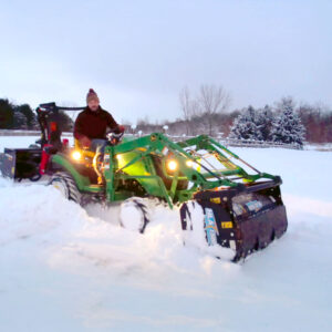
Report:
M235 118L228 138L262 141L257 111L252 106Z

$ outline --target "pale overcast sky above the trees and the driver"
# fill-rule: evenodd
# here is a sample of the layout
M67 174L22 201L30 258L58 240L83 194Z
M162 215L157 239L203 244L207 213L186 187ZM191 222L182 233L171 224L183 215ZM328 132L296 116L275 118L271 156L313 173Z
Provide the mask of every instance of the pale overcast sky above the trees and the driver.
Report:
M178 92L231 108L281 96L332 105L332 1L0 1L0 97L84 105L118 120L178 117Z

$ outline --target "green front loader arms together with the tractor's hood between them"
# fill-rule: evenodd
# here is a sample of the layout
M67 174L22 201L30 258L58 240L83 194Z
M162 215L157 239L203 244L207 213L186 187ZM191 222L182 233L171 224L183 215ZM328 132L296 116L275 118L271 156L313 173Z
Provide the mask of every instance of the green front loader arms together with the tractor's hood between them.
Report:
M201 158L186 149L190 146L193 147L191 152L207 151L224 169L218 170L205 165L204 160L200 160ZM154 133L110 146L105 149L107 197L110 200L117 200L120 195L117 184L123 180L136 179L147 195L164 198L173 207L176 203L190 199L198 190L212 190L221 186L243 188L242 183L230 179L230 176L237 176L238 179L248 183L261 178L274 179L273 176L264 173L249 175L230 157L241 160L226 147L204 135L174 143L167 136ZM156 158L160 158L159 172L155 165ZM167 162L170 159L177 163L177 172L167 170ZM188 162L197 167L189 167ZM165 181L170 181L168 188ZM188 181L190 187L179 189L180 181Z

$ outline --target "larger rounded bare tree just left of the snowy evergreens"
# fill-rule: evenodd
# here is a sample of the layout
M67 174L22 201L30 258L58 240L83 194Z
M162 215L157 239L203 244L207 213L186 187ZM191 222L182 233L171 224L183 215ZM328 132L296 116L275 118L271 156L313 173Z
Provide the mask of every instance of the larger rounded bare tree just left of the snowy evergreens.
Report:
M204 84L199 89L198 102L200 112L206 116L208 134L212 135L216 114L225 112L230 104L228 92L220 85Z

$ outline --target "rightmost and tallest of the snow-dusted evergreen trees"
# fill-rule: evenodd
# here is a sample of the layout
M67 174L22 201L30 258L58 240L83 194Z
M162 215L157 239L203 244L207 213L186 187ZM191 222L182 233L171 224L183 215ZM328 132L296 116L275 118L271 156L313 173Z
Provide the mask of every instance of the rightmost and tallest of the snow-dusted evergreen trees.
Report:
M279 116L272 124L271 137L273 142L303 145L305 128L294 112L294 102L291 97L281 100Z

